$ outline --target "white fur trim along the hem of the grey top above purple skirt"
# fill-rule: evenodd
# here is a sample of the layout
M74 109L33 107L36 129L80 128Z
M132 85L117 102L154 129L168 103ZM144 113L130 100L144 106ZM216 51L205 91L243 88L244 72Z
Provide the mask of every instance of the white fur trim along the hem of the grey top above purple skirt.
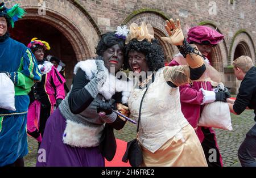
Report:
M71 120L66 120L66 122L63 143L73 147L94 147L100 145L100 137L104 125L94 128Z

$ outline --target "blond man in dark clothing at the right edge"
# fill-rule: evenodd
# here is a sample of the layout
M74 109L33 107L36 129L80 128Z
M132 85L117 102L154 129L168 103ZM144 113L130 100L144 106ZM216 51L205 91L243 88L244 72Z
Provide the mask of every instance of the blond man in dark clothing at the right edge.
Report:
M236 101L228 99L230 111L240 115L245 109L254 109L256 115L256 67L249 56L238 57L234 62L234 74L242 80ZM256 121L256 116L254 117ZM242 166L256 167L256 124L246 133L238 150Z

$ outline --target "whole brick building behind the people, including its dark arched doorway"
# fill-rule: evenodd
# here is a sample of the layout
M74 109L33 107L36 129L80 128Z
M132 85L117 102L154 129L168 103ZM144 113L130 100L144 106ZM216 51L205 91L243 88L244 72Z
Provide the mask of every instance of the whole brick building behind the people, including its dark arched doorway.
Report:
M95 56L94 46L102 33L113 31L119 24L150 23L155 37L167 36L165 20L179 18L183 32L196 25L216 28L225 39L210 53L210 62L223 73L227 86L237 92L232 61L247 55L255 63L256 7L255 0L2 0L7 7L19 3L27 15L10 29L14 39L24 44L32 37L48 41L49 54L66 65L68 84L77 61ZM166 61L177 52L164 41Z

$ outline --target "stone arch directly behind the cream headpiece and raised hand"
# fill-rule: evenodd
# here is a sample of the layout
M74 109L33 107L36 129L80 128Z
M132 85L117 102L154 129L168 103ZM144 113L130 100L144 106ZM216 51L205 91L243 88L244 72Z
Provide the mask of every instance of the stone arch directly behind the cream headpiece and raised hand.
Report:
M127 19L123 21L123 24L126 24L126 26L129 27L133 22L137 23L138 25L141 25L142 22L150 23L154 28L155 39L158 39L160 45L163 47L164 57L166 63L168 63L171 61L172 57L174 57L174 46L160 39L162 36L168 36L164 28L167 19L168 18L165 15L160 14L160 12L141 10L138 14L128 16Z

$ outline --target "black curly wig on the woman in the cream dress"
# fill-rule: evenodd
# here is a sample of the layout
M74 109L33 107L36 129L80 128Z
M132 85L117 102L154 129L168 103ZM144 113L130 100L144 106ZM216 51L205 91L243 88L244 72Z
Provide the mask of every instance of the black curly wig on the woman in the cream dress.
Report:
M137 41L137 39L131 40L129 44L126 45L125 61L123 62L127 69L130 69L128 63L128 54L130 50L136 50L146 56L149 71L157 71L164 67L163 48L160 46L158 40L154 39L152 40L152 43L148 42L146 39L143 41Z

